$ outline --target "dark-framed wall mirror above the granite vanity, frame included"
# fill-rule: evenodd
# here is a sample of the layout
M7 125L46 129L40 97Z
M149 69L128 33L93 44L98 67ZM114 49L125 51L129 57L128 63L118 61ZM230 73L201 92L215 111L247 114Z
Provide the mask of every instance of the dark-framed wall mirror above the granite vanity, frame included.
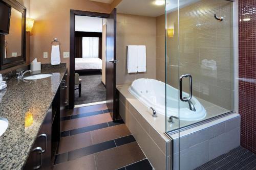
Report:
M5 69L26 61L26 8L14 0L0 0L0 8L0 18L7 20L0 24L1 69ZM1 28L9 30L1 32Z

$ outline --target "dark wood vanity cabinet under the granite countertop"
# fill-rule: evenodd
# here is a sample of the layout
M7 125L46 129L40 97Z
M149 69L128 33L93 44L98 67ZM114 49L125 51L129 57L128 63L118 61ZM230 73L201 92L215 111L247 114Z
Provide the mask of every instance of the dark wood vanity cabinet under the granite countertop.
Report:
M60 139L60 117L65 114L67 104L67 74L63 77L55 98L37 134L24 169L52 169Z

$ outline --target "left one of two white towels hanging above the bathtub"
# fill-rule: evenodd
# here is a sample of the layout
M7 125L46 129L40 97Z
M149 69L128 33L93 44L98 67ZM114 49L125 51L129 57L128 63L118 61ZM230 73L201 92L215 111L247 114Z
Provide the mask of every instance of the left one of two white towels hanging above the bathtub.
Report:
M137 72L137 45L128 45L127 70L128 73Z

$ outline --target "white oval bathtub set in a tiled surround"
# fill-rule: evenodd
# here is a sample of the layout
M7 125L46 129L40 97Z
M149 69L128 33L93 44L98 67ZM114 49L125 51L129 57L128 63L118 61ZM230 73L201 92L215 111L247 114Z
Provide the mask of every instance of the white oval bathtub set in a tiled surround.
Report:
M129 87L129 91L145 106L153 107L157 114L165 115L165 83L154 79L137 79L133 81L132 85ZM191 102L194 104L196 111L191 111L188 102L182 102L179 99L178 89L167 85L166 92L166 116L169 117L173 115L179 117L180 120L190 121L200 120L206 116L204 107L194 96ZM183 96L188 95L188 93L183 92ZM180 102L178 100L180 100Z

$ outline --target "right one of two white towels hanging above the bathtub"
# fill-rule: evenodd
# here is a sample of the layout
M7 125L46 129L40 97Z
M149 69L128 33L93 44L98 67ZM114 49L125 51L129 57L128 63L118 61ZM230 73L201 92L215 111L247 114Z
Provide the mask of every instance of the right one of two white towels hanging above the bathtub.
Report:
M145 72L146 71L146 46L145 45L138 45L138 72Z

